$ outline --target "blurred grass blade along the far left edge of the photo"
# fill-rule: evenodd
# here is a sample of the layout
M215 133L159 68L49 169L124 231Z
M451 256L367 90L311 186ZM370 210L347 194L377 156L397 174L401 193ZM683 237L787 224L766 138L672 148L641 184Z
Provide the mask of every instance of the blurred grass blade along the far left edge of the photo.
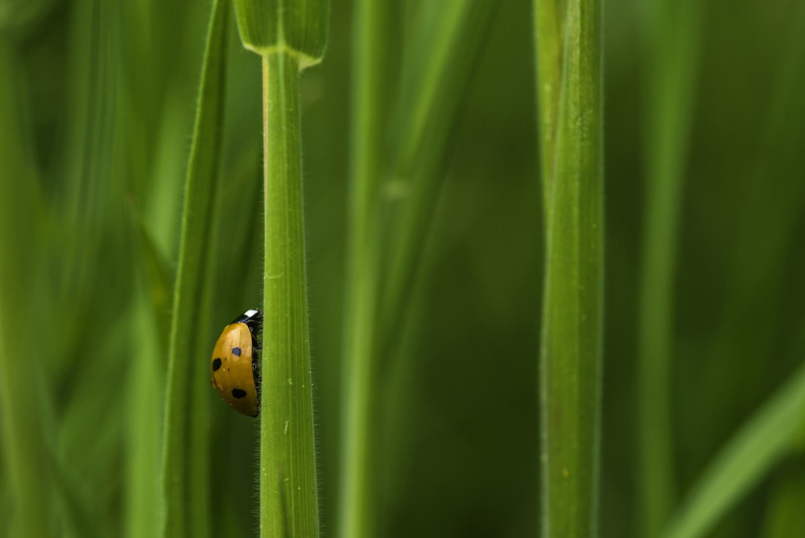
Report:
M51 469L45 445L43 372L31 317L31 265L38 259L35 171L27 158L19 60L0 35L0 411L13 503L10 536L52 536ZM21 343L27 345L21 347Z

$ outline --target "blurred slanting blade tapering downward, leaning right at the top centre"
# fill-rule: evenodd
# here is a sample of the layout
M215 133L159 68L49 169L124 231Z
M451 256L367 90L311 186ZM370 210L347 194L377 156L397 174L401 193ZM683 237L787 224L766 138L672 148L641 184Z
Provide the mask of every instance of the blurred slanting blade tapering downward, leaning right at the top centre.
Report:
M496 0L429 2L419 14L414 60L403 69L398 114L405 121L390 172L394 188L406 193L398 221L390 225L394 240L382 297L382 354L407 312L460 106L496 5Z

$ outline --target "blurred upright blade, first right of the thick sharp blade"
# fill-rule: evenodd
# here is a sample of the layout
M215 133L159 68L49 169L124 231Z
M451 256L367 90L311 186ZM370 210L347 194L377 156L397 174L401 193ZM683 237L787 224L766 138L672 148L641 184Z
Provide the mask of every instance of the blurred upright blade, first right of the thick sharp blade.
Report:
M674 282L702 2L648 0L646 182L638 333L639 536L663 529L675 503L671 428Z

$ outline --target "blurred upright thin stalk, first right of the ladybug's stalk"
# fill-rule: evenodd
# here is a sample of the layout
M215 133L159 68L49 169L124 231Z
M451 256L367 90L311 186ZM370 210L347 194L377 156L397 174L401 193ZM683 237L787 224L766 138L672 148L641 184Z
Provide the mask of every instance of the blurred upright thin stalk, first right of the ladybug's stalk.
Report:
M354 7L352 155L345 312L344 436L341 446L343 538L374 536L373 482L384 89L388 64L389 5L359 0Z

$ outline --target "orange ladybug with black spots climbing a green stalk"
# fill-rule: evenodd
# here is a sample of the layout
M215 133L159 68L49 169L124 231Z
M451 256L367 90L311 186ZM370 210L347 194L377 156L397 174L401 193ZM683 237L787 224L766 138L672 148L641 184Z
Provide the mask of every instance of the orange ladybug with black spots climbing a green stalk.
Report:
M262 312L246 310L224 327L210 358L209 384L229 407L248 416L260 410L257 333L262 329Z

